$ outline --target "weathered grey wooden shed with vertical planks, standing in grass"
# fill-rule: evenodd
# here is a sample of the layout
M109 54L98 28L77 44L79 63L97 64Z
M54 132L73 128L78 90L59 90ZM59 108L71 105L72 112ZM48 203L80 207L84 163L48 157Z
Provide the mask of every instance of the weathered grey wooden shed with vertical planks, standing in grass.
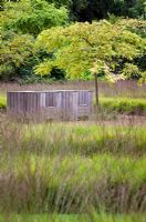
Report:
M93 91L9 91L7 99L8 113L11 115L79 120L91 117Z

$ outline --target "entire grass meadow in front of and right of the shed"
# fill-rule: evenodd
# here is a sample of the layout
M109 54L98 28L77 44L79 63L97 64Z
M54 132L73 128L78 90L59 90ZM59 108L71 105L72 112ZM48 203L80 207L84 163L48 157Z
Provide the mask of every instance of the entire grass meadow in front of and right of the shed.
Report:
M115 102L111 99L115 89L109 87L111 98L101 95L101 103L106 107L109 101L111 114L92 121L36 123L2 113L0 222L145 221L145 117L138 122L136 112L127 121L112 115L118 103L127 111L125 107L135 108L137 101L145 110L145 89L136 89L139 99L129 90L129 99L125 92L117 100L118 93ZM4 89L0 90L4 98ZM104 121L106 115L112 122Z

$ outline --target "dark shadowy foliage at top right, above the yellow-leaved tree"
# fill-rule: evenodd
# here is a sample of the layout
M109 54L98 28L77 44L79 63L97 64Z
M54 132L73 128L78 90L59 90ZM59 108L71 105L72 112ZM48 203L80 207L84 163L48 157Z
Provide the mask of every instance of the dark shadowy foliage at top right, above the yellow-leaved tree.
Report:
M72 19L92 21L105 19L108 13L131 18L144 18L145 0L48 0L59 6L66 6Z

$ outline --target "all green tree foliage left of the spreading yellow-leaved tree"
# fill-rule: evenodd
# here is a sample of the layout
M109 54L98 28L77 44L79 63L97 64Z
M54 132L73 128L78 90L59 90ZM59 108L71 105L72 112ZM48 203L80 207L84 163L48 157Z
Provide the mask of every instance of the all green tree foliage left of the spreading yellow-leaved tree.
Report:
M66 9L56 9L54 4L40 0L7 2L1 12L0 22L2 28L0 80L24 78L28 82L40 81L40 78L33 75L33 67L46 57L50 58L51 54L45 50L43 52L34 50L35 39L33 36L52 26L65 24L67 22ZM59 70L52 73L52 77L56 77L56 79L60 79L62 71L59 74ZM46 78L41 79L45 81Z

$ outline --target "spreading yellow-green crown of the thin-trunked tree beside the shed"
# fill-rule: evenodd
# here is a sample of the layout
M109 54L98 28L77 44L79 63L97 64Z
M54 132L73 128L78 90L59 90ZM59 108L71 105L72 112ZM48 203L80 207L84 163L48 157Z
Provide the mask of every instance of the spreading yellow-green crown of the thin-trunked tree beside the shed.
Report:
M117 79L119 75L113 73L119 60L131 63L146 49L146 40L132 32L126 22L128 20L117 23L103 20L43 31L38 37L36 48L54 52L54 58L38 65L35 73L49 74L53 67L59 67L65 69L70 79L80 79L87 71L104 71L107 79Z

